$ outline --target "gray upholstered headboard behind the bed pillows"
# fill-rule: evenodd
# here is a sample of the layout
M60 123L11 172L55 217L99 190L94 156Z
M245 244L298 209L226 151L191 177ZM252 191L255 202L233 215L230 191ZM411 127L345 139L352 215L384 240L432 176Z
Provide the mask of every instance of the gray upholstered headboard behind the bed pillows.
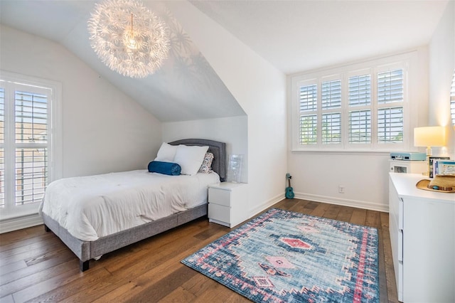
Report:
M208 151L213 154L213 171L220 175L220 180L222 182L226 180L226 144L224 142L208 139L181 139L174 142L169 142L169 144L208 147Z

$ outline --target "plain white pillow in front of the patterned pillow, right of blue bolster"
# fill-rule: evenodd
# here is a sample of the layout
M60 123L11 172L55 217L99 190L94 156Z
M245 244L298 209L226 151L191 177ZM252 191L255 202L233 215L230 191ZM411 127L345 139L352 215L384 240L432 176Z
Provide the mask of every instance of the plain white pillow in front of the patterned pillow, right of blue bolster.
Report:
M193 176L198 173L207 150L208 147L178 145L173 161L181 166L181 174Z

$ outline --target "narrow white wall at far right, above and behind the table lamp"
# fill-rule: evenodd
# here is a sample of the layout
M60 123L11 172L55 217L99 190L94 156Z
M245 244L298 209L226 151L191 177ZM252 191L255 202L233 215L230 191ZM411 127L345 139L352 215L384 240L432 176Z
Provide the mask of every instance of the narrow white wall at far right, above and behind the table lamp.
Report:
M434 154L449 154L455 159L455 130L450 118L450 86L455 70L455 1L446 10L429 43L429 115L422 126L446 126L447 151L434 148Z

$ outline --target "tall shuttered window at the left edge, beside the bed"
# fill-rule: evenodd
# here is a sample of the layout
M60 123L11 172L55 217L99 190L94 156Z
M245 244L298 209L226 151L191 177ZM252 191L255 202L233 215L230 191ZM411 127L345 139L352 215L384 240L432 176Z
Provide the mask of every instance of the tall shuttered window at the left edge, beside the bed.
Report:
M43 85L44 84L44 85ZM1 74L0 211L2 217L36 213L48 183L55 178L59 154L51 125L58 84ZM54 124L53 124L54 123Z

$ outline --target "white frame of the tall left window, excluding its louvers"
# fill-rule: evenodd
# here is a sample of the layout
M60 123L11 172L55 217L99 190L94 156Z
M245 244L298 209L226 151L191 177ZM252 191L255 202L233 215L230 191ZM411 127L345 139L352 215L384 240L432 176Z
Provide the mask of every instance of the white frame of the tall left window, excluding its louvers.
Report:
M48 184L62 177L62 119L61 119L61 94L62 85L53 80L36 78L18 73L10 73L0 70L0 85L5 88L4 104L4 142L0 147L4 149L4 190L5 206L0 208L1 220L28 216L38 213L40 203L28 203L16 206L16 197L14 187L15 167L16 167L16 149L27 147L39 147L43 144L29 144L26 142L16 142L15 137L15 91L19 85L28 88L28 92L43 92L49 90L48 94ZM10 101L9 101L10 100Z

